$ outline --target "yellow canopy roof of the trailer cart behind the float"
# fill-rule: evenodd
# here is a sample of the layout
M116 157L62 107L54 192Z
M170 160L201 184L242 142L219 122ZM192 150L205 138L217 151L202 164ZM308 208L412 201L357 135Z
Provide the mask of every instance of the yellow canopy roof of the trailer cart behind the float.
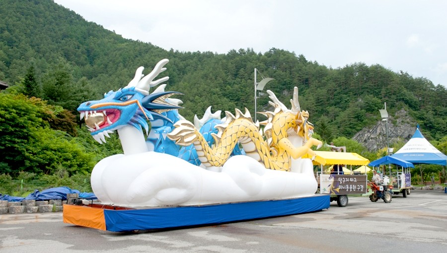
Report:
M331 151L315 151L315 159L312 161L314 165L367 165L370 160L365 157L351 152L331 152ZM304 155L302 158L312 158Z

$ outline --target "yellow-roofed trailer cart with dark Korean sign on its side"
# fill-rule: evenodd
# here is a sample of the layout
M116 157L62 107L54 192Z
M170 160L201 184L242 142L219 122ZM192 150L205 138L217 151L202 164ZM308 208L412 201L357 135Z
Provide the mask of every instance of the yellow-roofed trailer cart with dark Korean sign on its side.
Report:
M320 194L330 194L331 201L337 201L338 206L348 205L349 194L367 193L367 175L355 175L352 166L362 166L370 163L365 157L351 152L315 151L314 165L319 166L316 173ZM310 157L308 157L310 158ZM332 171L325 167L343 170ZM350 169L348 169L349 166Z

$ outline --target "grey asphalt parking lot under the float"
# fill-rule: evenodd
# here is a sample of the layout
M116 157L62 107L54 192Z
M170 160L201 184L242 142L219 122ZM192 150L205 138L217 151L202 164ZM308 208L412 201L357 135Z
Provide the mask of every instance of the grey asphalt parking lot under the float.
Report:
M185 217L187 218L187 217ZM320 212L161 231L65 224L62 212L0 215L0 252L445 252L447 194L413 190L390 203L349 197Z

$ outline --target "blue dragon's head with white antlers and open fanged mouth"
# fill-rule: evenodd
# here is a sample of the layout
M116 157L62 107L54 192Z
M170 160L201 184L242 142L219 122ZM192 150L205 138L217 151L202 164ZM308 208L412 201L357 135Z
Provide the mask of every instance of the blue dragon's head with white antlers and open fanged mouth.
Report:
M131 125L140 130L144 128L148 132L147 120L170 121L161 113L181 108L168 102L170 96L181 93L158 92L159 89L156 89L149 94L150 87L169 79L166 76L153 80L159 73L166 70L163 65L168 62L166 59L161 60L147 76L142 74L144 67L139 67L134 79L126 87L109 91L101 100L80 104L77 108L80 119L85 119L85 125L96 141L101 144L106 142L105 137L110 137L109 133L123 126Z

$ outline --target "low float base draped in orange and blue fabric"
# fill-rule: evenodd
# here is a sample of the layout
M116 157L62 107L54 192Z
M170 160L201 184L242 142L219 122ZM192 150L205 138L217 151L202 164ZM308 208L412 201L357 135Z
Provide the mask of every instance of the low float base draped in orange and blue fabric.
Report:
M329 205L329 195L144 209L94 203L88 205L66 204L63 217L65 223L113 232L125 232L287 216L321 211L329 208Z

